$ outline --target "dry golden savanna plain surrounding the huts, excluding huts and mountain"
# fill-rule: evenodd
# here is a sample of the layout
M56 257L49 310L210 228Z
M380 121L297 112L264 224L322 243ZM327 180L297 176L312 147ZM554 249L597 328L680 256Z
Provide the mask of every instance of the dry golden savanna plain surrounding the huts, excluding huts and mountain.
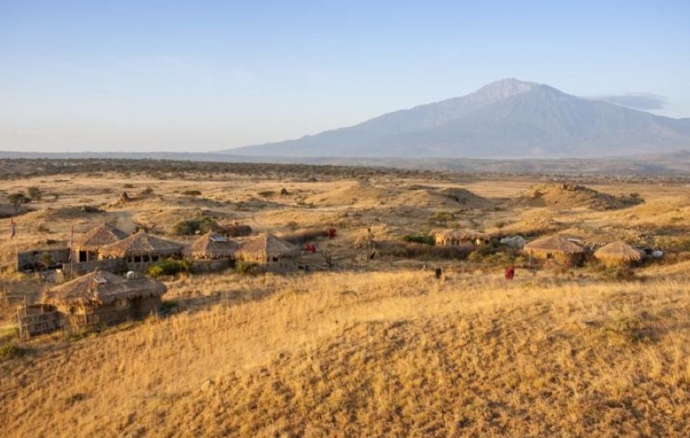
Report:
M690 435L690 181L677 175L0 169L3 436ZM48 260L23 269L17 254L71 248L103 224L185 248L175 272L139 274L166 287L157 311L20 336L21 308L72 278ZM482 241L439 245L440 230ZM207 231L237 245L269 233L299 255L279 272L239 259L187 269ZM560 236L584 260L500 241L512 236ZM618 241L662 254L594 256Z

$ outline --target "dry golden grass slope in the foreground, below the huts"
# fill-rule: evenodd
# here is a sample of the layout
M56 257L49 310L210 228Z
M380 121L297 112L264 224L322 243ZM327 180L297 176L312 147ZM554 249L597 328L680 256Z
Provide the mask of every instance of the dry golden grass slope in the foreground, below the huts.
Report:
M678 280L524 274L506 289L404 271L220 275L203 288L220 301L3 365L9 435L690 433ZM185 289L199 294L173 290Z

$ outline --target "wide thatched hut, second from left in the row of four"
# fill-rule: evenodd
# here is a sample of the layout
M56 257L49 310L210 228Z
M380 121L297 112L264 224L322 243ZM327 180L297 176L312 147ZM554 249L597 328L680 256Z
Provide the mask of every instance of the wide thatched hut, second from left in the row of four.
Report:
M142 271L160 258L181 258L183 245L151 236L144 231L101 248L101 257L124 258L128 269Z

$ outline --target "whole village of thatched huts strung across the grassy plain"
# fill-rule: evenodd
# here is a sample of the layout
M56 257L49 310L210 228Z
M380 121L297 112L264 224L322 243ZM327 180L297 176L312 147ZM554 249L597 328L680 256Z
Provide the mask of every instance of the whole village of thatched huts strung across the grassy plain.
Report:
M571 184L553 187L563 191L588 190ZM287 194L287 189L282 188L281 196ZM118 203L124 206L128 202L130 196L123 191ZM344 258L344 254L345 258L353 258L350 268L356 269L362 260L373 260L377 248L385 251L386 243L395 247L406 241L411 245L451 249L455 251L451 260L462 260L475 251L502 254L503 265L499 263L496 269L505 269L506 280L513 279L515 258L520 258L520 267L526 269L577 269L589 260L624 272L645 260L663 256L658 248L638 249L623 240L592 243L553 234L534 236L528 241L524 236L500 231L489 234L461 228L436 229L426 236L403 236L401 242L377 243L373 225L356 242L353 256L351 249L322 249L322 242L332 242L337 237L335 227L300 229L281 238L270 231L256 234L248 225L234 224L224 229L213 220L206 220L209 229L202 234L193 221L188 222L186 226L191 228L185 234L193 237L187 242L152 234L145 231L146 227L137 227L134 233L128 234L103 222L80 234L72 231L66 242L68 247L17 250L17 272L37 274L46 282L57 283L46 287L34 303L28 303L23 297L22 305L17 307L20 337L28 339L58 329L103 328L159 314L166 285L149 277L208 274L228 269L253 275L337 269L333 260ZM204 223L204 218L197 222ZM10 240L16 233L17 223L10 218ZM435 262L432 260L425 267L433 268L440 279L443 263ZM339 268L347 269L345 265Z

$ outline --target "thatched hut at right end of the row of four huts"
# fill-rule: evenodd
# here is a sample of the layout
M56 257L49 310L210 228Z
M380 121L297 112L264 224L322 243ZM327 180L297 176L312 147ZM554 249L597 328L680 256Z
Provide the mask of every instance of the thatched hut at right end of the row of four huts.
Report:
M296 245L264 233L240 245L235 259L257 262L271 271L286 271L297 267L300 254Z

